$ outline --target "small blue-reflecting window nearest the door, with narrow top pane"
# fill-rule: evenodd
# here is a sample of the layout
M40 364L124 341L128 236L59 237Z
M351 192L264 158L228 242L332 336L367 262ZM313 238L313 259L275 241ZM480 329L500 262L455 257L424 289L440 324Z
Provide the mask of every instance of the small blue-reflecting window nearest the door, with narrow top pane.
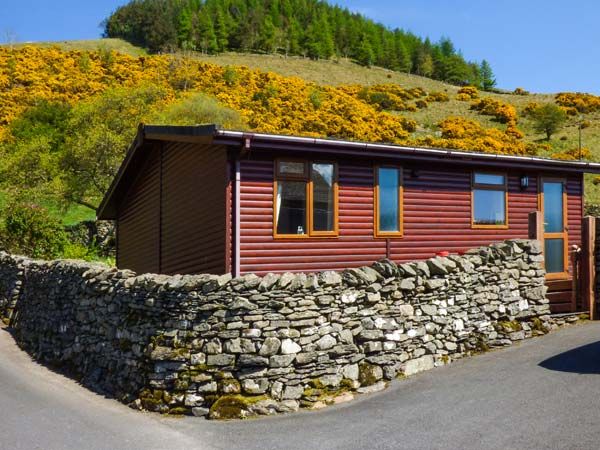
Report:
M471 225L473 228L507 228L506 175L474 172Z

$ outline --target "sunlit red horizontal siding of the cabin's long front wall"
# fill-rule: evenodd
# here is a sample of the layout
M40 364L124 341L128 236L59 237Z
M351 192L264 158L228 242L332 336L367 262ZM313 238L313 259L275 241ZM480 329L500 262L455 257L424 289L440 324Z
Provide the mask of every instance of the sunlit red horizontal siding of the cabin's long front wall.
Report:
M417 169L414 173L413 169ZM342 269L370 264L386 256L398 262L426 259L447 250L462 252L510 238L527 238L528 214L538 207L537 174L521 190L522 173L508 173L509 228L471 228L471 170L404 168L404 237L373 237L373 168L362 162L339 164L339 238L273 238L273 162L241 165L242 273ZM581 176L568 181L569 238L581 241Z

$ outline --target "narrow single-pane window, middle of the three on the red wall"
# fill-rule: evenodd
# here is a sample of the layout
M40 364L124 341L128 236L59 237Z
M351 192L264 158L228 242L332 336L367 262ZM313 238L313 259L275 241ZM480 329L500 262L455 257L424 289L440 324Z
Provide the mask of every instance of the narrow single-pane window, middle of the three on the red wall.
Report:
M375 168L375 237L402 236L402 168Z

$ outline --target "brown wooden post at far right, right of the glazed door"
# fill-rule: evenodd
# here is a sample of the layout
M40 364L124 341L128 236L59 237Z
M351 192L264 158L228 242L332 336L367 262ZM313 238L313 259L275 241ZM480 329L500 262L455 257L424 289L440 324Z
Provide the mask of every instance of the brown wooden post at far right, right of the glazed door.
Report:
M581 230L581 303L583 309L590 311L590 319L596 319L596 218L583 218Z

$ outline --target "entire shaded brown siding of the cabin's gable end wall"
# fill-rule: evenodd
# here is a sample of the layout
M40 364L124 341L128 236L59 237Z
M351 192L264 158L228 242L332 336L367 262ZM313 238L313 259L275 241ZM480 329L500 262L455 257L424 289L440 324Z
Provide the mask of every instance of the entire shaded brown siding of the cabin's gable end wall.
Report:
M176 142L160 146L120 205L118 265L139 273L222 274L226 151Z

